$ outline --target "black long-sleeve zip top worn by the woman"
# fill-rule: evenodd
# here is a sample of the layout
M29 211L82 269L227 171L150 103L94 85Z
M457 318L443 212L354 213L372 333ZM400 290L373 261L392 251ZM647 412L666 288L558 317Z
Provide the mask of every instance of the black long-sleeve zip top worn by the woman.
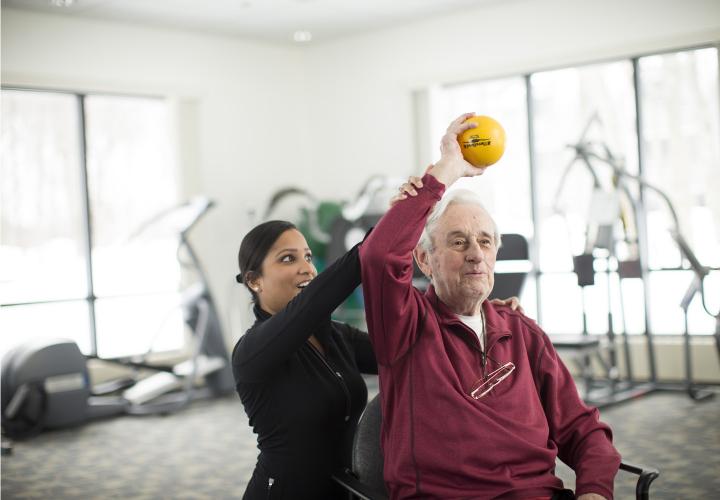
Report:
M232 355L260 449L244 498L342 497L331 474L350 465L352 435L367 403L360 373L377 373L377 363L368 335L330 314L359 284L354 247L279 313L255 307L257 321Z

